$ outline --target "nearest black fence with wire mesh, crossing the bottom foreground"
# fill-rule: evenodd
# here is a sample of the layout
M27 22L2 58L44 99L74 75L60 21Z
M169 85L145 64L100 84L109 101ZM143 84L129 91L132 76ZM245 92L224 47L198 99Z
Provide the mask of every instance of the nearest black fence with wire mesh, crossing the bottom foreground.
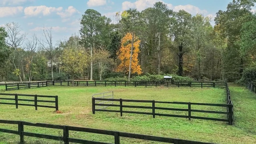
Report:
M0 120L0 123L17 124L18 130L8 130L8 129L0 128L0 132L20 135L21 144L24 143L24 136L58 140L58 141L64 142L64 144L69 144L69 142L80 143L80 144L109 144L106 142L97 142L97 141L72 138L69 136L69 131L90 132L94 134L104 134L104 135L114 136L114 144L120 144L120 137L135 138L138 140L150 140L150 141L156 141L156 142L166 142L166 143L172 143L172 144L210 144L206 142L196 142L196 141L180 140L180 139L174 139L174 138L148 136L148 135L142 135L142 134L131 134L131 133L125 133L125 132L109 131L109 130L98 130L98 129L92 129L92 128L79 128L79 127L72 127L72 126L60 126L60 125L39 124L39 123L33 124L30 122L20 122L20 121L10 121L10 120ZM62 136L52 136L47 134L37 134L32 132L26 132L26 130L24 130L24 126L60 129L60 130L63 130L63 135L61 134Z

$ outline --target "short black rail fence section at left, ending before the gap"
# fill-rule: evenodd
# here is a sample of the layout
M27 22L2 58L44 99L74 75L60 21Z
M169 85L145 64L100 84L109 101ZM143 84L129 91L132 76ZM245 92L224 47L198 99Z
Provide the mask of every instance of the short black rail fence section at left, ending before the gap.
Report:
M28 97L34 97L30 99L23 99ZM38 100L38 98L48 98L47 100ZM24 104L19 102L34 102L34 104ZM45 106L38 103L55 103L55 106ZM58 110L58 96L42 96L31 94L0 94L0 104L9 104L18 106L34 106L37 110L38 107L55 108Z

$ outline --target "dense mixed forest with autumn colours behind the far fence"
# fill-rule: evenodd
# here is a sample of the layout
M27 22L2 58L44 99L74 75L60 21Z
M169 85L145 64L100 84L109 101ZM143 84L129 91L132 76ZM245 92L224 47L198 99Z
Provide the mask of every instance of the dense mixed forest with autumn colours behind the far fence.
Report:
M52 29L26 38L16 22L0 27L0 80L130 80L150 74L197 80L256 80L256 0L233 0L214 18L175 12L162 2L142 12L93 9L78 35L53 44Z

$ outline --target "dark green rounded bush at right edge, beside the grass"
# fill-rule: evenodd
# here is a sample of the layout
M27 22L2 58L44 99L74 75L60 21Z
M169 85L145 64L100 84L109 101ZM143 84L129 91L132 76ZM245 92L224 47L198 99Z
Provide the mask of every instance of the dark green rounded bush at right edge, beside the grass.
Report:
M248 82L256 83L256 67L244 69L242 78L236 81L240 85L246 85Z

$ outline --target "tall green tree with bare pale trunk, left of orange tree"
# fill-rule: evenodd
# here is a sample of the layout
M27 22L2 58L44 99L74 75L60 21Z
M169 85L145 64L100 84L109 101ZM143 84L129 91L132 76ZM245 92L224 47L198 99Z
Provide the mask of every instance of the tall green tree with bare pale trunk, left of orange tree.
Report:
M90 50L90 80L93 80L93 49L98 48L102 44L106 46L104 38L108 34L110 19L102 16L96 10L88 9L82 15L80 23L82 43L88 51Z

